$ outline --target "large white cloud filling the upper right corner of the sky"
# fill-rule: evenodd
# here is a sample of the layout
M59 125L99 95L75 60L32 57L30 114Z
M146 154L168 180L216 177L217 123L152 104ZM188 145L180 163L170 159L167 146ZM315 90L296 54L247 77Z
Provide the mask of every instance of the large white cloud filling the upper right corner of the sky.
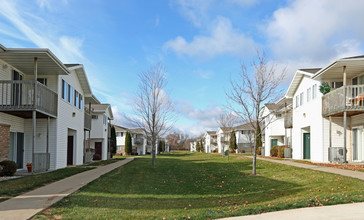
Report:
M327 63L362 53L363 11L356 0L289 1L264 31L276 59Z

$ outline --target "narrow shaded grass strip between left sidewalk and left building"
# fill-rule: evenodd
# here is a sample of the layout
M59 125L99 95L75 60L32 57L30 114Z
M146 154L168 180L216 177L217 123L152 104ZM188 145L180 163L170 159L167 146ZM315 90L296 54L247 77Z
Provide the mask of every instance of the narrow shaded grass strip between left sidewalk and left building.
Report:
M84 172L93 168L86 167L67 167L48 173L25 176L0 182L0 202L20 195L21 193L44 186L48 183Z

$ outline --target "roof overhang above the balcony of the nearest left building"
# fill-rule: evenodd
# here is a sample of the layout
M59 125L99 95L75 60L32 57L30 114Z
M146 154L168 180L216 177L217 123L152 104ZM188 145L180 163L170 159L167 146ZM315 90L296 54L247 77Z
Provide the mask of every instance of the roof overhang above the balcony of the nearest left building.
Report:
M34 59L37 58L39 75L67 75L68 68L45 48L6 48L0 45L0 58L21 72L34 75Z

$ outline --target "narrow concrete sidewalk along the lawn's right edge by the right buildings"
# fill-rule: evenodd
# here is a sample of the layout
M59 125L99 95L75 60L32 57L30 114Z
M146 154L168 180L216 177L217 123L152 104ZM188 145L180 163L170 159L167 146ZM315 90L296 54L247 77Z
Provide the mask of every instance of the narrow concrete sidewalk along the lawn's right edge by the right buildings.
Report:
M249 157L249 158L253 158L253 157ZM334 173L334 174L339 174L342 176L348 176L348 177L353 177L353 178L364 180L364 172L360 172L360 171L344 170L344 169L339 169L339 168L324 167L324 166L318 166L318 165L313 165L313 164L304 164L304 163L298 163L298 162L294 162L294 161L290 161L290 160L274 160L274 159L269 159L269 158L264 158L264 157L257 157L257 159L269 161L272 163L280 163L280 164L285 164L285 165L289 165L289 166L301 167L301 168L305 168L305 169L318 170L318 171L323 171L323 172L327 172L327 173ZM363 216L363 219L364 219L364 216Z

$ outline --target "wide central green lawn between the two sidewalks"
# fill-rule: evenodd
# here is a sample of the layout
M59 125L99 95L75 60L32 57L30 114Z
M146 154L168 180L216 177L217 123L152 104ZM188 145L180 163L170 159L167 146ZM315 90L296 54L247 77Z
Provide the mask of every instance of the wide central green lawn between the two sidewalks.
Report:
M234 155L150 157L103 175L35 218L207 219L364 201L364 182Z

